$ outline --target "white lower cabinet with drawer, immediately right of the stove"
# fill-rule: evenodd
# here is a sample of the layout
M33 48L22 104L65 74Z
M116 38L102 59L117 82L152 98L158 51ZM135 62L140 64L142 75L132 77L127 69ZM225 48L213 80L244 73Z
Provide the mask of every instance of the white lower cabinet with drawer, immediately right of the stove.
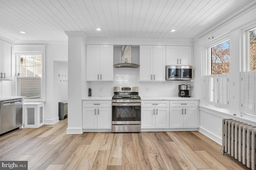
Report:
M141 128L169 128L169 101L142 101Z

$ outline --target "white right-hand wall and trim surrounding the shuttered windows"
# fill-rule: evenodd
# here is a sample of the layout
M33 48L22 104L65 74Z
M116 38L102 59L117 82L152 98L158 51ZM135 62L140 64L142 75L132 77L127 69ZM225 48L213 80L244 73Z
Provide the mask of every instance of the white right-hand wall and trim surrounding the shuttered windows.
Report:
M195 74L200 75L199 79L194 79L194 94L200 98L200 128L199 131L206 134L216 142L221 144L222 119L231 118L250 125L256 125L255 117L250 117L240 113L240 71L242 68L243 55L243 36L242 31L252 26L256 26L256 7L250 11L237 16L222 27L214 30L210 34L202 37L200 40L194 39L194 68ZM204 105L203 99L203 82L204 75L204 47L210 43L217 42L221 37L229 36L230 38L230 74L229 74L229 109L209 109ZM214 39L210 38L214 37ZM209 39L210 38L210 39ZM201 69L201 70L200 70Z

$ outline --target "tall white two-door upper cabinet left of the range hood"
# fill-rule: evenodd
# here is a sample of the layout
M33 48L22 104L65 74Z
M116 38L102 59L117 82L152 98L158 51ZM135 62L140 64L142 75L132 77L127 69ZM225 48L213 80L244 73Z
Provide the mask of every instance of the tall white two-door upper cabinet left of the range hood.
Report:
M113 81L113 45L87 45L87 81Z

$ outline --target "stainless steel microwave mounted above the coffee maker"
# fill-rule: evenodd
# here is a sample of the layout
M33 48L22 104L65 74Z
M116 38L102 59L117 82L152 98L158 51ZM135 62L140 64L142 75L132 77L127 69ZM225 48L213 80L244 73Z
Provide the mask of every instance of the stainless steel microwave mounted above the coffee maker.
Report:
M193 66L166 65L166 80L192 80Z

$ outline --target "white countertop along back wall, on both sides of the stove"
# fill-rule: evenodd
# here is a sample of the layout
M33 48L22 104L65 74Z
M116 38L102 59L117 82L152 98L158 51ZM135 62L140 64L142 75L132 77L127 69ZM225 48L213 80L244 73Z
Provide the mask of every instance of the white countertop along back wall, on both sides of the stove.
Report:
M86 97L82 100L111 100L112 96L92 96L92 97ZM143 96L141 97L141 100L200 100L194 97L148 97Z

